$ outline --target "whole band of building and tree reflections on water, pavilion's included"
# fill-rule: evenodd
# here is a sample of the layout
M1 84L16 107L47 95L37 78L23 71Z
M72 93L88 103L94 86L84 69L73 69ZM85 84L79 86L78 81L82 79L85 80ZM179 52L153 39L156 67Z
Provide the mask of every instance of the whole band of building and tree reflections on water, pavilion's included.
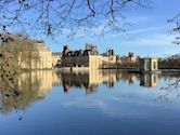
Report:
M81 72L40 70L24 72L18 77L17 84L14 86L17 95L11 94L11 91L7 95L7 89L1 90L0 111L7 113L14 109L25 109L31 103L46 98L53 85L62 85L65 93L68 93L73 86L79 87L86 90L88 95L98 91L100 84L111 89L118 81L128 82L129 84L140 81L140 85L156 86L157 80L156 75L127 73L120 70Z

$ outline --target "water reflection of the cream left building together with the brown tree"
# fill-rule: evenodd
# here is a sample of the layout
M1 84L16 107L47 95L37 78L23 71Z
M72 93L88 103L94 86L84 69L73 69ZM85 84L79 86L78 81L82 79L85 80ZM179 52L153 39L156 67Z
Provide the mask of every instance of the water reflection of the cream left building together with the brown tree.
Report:
M1 80L0 84L4 84ZM14 109L25 109L31 103L44 99L53 85L61 84L54 71L39 70L22 73L15 85L5 84L0 89L0 111L11 112Z

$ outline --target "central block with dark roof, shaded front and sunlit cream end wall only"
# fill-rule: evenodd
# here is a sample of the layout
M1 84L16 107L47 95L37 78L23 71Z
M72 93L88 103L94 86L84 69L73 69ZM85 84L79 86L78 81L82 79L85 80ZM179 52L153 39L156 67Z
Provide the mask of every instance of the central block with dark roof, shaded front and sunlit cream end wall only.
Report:
M62 55L62 67L99 69L102 67L102 56L95 46L87 44L86 50L69 51L64 46Z

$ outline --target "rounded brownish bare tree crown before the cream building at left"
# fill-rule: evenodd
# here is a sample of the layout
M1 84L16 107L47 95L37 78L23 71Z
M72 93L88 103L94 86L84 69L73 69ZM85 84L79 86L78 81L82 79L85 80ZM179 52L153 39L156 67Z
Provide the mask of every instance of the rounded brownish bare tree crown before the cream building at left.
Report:
M23 68L31 69L31 65L37 65L39 51L34 40L22 35L5 33L0 46L0 66L2 70L18 70ZM35 67L35 66L34 66Z

